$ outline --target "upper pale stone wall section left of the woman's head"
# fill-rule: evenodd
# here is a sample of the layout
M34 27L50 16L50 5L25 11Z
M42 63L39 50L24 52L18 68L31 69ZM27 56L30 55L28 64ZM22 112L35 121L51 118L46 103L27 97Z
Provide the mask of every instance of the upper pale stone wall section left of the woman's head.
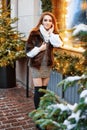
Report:
M40 0L11 0L12 17L17 16L18 30L27 37L41 13Z

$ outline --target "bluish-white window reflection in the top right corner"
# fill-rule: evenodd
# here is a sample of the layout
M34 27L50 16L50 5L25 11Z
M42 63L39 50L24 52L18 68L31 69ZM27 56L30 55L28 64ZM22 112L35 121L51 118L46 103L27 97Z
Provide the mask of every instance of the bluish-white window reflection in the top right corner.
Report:
M79 23L87 24L87 0L70 0L67 10L67 28Z

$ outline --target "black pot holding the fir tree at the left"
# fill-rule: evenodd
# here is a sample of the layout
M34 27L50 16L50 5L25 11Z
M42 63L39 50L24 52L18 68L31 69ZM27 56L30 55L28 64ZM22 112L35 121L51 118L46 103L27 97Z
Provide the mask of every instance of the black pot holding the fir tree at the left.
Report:
M0 67L0 88L13 88L16 86L16 70L12 66Z

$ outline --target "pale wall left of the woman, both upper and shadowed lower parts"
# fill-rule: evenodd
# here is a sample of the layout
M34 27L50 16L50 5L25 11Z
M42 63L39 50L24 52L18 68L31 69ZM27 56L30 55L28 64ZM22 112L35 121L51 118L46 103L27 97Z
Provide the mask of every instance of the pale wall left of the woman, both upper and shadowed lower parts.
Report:
M25 34L26 38L30 30L35 26L41 14L40 0L11 0L11 17L18 17L16 26ZM26 85L26 58L16 61L16 80ZM32 86L32 78L29 72L29 86Z

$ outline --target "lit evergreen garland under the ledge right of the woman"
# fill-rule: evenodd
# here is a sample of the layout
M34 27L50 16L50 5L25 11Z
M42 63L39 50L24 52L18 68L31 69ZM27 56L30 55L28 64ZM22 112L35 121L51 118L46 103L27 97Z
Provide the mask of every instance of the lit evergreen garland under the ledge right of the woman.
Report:
M86 54L87 55L87 52ZM82 55L82 58L69 55L67 53L62 53L59 51L54 51L54 66L53 70L56 70L63 75L74 76L82 75L86 72L87 63Z

